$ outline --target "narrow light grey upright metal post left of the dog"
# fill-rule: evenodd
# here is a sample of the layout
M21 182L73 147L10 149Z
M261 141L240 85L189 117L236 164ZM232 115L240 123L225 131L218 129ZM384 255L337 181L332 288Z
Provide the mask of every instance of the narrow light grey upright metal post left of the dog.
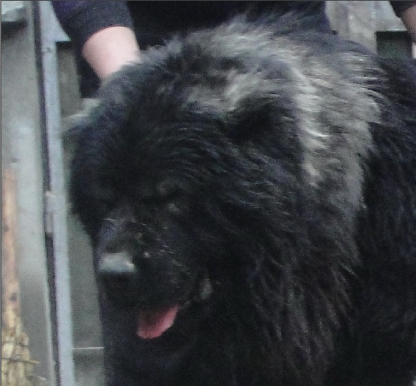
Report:
M41 68L43 80L43 109L45 114L48 148L49 192L46 201L50 215L50 236L54 259L55 307L57 319L57 357L60 386L75 386L73 358L72 309L70 296L70 270L68 262L67 199L61 113L57 68L57 40L67 39L55 21L49 1L38 1L41 32Z

